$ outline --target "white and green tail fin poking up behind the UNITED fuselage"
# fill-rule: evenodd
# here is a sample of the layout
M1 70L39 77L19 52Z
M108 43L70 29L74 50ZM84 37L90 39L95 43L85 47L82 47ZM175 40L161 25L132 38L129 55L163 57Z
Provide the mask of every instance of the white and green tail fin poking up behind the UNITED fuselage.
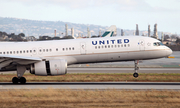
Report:
M116 30L116 26L112 25L110 26L102 35L102 37L112 37L114 34L114 31Z

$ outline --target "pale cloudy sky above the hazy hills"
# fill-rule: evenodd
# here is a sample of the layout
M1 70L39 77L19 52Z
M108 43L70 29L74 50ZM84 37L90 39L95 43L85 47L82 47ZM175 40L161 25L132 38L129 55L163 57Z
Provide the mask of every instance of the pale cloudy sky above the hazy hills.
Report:
M180 34L180 0L0 0L0 17Z

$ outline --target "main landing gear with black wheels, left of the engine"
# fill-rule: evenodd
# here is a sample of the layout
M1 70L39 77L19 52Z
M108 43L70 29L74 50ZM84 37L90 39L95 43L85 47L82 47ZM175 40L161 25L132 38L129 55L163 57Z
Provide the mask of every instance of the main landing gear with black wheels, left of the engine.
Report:
M26 71L26 67L25 66L17 66L17 76L18 77L13 77L12 78L12 82L13 84L18 84L19 82L21 84L25 84L26 83L26 78L23 77L24 72Z

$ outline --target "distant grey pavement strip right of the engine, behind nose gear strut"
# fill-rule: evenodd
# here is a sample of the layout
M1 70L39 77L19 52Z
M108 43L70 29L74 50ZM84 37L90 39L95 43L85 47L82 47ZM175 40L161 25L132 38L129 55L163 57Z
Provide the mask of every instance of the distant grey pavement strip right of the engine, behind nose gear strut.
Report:
M134 68L68 68L68 73L134 73ZM180 68L140 68L138 73L180 73Z

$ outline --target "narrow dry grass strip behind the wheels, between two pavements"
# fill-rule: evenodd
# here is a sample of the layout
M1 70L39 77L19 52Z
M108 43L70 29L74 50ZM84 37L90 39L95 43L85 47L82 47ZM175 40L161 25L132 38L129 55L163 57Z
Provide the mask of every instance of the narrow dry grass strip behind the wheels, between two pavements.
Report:
M0 75L0 82L11 82L15 74ZM25 74L27 82L180 82L180 74L139 74L138 78L134 78L132 74L107 74L107 73L77 73L66 74L60 76L35 76Z

